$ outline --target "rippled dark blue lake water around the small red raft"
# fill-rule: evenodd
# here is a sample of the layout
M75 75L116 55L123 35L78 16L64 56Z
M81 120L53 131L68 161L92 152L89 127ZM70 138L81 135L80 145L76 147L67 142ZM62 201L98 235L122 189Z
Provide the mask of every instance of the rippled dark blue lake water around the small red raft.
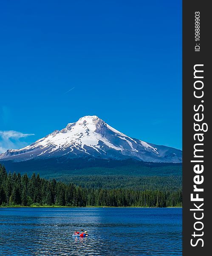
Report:
M0 255L177 256L181 233L181 208L0 208Z

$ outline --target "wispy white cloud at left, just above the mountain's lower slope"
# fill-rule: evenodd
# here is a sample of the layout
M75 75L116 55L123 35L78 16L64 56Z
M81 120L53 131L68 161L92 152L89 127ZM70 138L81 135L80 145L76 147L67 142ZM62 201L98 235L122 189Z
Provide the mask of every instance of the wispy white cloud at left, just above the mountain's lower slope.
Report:
M6 152L8 149L17 149L25 147L28 143L20 141L34 134L23 134L19 131L0 131L0 153Z

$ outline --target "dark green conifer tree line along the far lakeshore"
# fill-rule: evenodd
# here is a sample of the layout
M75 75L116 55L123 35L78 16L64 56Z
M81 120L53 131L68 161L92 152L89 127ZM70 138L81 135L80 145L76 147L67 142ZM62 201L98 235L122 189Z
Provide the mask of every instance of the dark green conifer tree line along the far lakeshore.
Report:
M102 189L76 186L39 174L7 173L0 164L1 206L181 207L182 190Z

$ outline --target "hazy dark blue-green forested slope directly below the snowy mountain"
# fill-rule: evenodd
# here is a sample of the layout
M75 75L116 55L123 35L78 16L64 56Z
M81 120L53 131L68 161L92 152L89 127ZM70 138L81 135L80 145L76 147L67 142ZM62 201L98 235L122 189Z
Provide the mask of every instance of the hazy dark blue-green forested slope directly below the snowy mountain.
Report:
M147 163L138 160L112 160L57 157L33 159L23 162L0 161L8 172L27 172L31 176L39 170L40 177L51 178L60 175L130 175L170 176L181 175L181 163Z

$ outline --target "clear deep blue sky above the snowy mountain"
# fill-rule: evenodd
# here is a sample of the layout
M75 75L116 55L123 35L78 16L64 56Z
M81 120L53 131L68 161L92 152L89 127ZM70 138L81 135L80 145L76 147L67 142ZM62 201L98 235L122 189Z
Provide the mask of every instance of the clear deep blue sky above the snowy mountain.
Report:
M178 0L2 2L0 152L85 115L181 149L181 22Z

